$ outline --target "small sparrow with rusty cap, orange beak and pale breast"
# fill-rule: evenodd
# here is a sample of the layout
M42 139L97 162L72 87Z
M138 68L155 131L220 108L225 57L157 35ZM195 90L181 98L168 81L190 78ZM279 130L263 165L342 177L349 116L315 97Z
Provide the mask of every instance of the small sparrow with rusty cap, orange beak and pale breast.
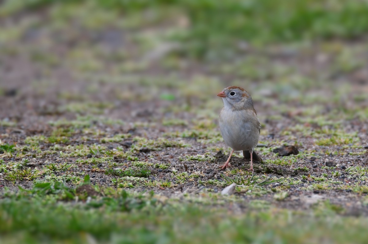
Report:
M234 151L243 151L243 157L251 160L250 170L253 170L253 160L263 162L254 151L261 133L261 123L253 106L251 95L238 86L226 87L217 94L222 98L223 108L219 115L219 126L222 138L227 146L232 148L226 163L219 168L229 165Z

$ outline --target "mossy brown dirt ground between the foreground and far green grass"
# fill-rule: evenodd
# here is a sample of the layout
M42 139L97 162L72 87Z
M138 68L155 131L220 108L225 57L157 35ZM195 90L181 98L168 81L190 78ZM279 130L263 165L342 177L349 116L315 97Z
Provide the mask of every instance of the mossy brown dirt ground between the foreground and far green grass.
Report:
M277 181L238 186L228 207L322 203L368 215L366 42L248 48L208 62L182 57L170 43L146 48L119 29L24 25L0 46L0 144L16 145L0 154L2 189L34 180L74 186L89 174L102 187L204 201L231 184L226 175L251 177L240 154L218 168L230 149L219 134L216 94L238 85L251 93L262 124L256 151L265 162L254 174ZM299 154L273 152L285 144ZM118 175L129 168L150 172Z

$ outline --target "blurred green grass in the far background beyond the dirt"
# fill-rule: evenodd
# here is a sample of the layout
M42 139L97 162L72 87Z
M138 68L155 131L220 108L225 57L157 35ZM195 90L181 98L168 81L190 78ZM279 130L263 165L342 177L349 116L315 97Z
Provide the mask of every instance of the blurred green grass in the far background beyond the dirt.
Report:
M56 4L57 3L57 4ZM182 43L175 50L178 55L215 58L218 55L233 57L242 50L241 43L254 45L269 42L296 42L313 39L359 38L368 29L368 6L359 0L325 1L298 0L286 3L282 0L249 0L246 2L229 0L174 0L174 1L120 1L96 0L86 1L50 1L34 0L6 1L0 11L0 16L8 16L19 11L33 11L39 8L53 7L59 18L81 18L80 24L89 29L102 29L106 25L131 28L142 27L152 23L186 22L184 25L174 25L171 31L161 33L158 39L175 40ZM78 11L76 11L78 10ZM146 18L140 18L144 11L155 13ZM91 17L86 13L93 12ZM124 12L124 19L116 21L119 13ZM216 18L213 18L216 16ZM152 36L151 36L152 38ZM143 44L148 44L141 41ZM149 43L151 46L152 44ZM38 55L35 58L47 64L54 65L54 58ZM79 70L95 72L103 69L99 59L83 57L85 62L74 62ZM355 62L347 54L337 59L337 67L342 70L354 69ZM88 60L88 62L86 62ZM131 65L130 65L131 66ZM127 70L132 68L128 65ZM244 68L245 67L245 68ZM254 69L248 70L248 65L241 66L238 72L254 76ZM264 72L263 72L264 73ZM267 77L268 74L256 74Z

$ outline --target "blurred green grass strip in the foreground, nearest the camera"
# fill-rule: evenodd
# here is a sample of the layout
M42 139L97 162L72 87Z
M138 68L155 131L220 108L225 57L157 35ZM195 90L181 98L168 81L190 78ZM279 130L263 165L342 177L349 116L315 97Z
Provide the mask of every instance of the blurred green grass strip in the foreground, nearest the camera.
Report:
M98 243L158 243L165 239L169 243L194 244L237 243L244 238L251 243L279 240L296 244L305 240L338 244L365 243L366 240L367 219L338 216L336 213L343 209L329 202L315 207L315 215L325 216L323 218L287 210L267 210L270 206L259 200L250 205L257 211L234 215L222 208L202 208L188 203L163 207L160 197L154 194L106 190L104 198L73 205L52 203L52 196L75 194L60 184L40 183L31 191L9 194L0 201L0 222L7 223L0 225L2 238L37 243L56 239L85 243L88 235L89 240Z

